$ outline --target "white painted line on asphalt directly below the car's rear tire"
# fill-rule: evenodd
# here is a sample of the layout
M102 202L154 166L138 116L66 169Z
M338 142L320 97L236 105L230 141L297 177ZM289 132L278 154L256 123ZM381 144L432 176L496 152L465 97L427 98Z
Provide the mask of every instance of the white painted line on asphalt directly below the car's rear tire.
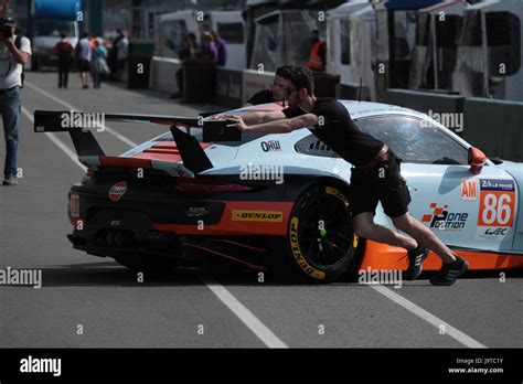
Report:
M203 282L239 320L268 348L289 348L270 329L231 294L227 288L209 276L200 276Z

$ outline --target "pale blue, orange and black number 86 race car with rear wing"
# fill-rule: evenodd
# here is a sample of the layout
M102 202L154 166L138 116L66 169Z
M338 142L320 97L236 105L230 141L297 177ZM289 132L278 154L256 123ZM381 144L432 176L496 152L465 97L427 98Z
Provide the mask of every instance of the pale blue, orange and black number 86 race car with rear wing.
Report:
M360 129L402 158L410 214L470 269L523 267L523 164L487 159L425 114L341 102ZM226 114L281 108L267 104ZM353 270L407 267L405 249L354 234L352 167L310 129L242 135L211 117L105 114L106 120L170 126L113 157L85 124L64 128L64 114L70 113L35 111L34 130L68 131L87 167L68 194L67 237L75 249L130 268L221 260L226 268L316 282ZM86 115L78 115L85 122ZM375 222L397 231L381 206ZM440 265L429 255L424 269Z

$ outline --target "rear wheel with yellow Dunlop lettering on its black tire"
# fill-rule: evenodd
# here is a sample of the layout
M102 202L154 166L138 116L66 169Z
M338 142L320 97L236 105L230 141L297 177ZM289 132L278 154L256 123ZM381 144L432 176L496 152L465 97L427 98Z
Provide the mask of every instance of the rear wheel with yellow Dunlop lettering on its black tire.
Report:
M308 282L332 282L344 275L356 254L346 188L321 182L297 199L285 246L288 274Z

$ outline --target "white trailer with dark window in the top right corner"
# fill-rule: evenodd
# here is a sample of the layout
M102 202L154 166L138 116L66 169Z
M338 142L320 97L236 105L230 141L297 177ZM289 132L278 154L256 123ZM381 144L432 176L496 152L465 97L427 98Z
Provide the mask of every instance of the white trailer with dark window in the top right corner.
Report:
M523 100L523 2L485 0L465 11L452 89Z

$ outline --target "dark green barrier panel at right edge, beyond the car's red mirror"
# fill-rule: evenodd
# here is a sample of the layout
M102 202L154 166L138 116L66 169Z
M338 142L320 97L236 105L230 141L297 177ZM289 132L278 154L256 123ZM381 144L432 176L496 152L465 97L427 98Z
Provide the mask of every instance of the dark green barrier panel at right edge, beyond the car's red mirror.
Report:
M471 97L463 113L465 140L488 157L523 161L523 103Z

